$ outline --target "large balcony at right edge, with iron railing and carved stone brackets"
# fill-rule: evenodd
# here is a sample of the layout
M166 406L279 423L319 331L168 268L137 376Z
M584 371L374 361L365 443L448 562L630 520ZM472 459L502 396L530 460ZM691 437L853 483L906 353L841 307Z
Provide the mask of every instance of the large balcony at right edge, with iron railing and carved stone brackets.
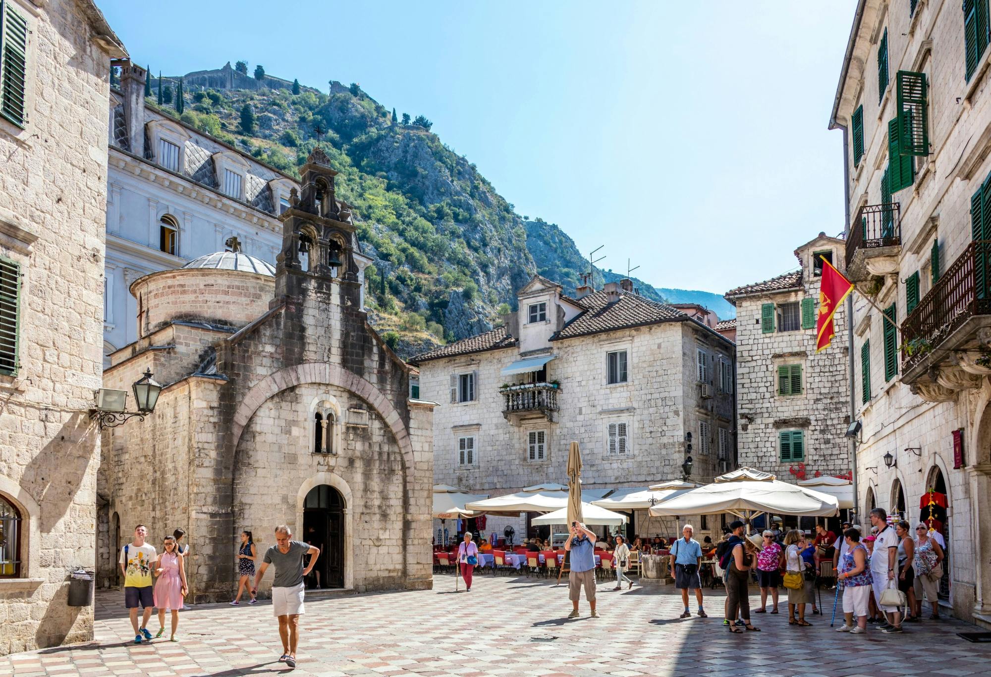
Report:
M902 323L902 381L931 390L976 387L991 373L989 343L991 241L976 241Z

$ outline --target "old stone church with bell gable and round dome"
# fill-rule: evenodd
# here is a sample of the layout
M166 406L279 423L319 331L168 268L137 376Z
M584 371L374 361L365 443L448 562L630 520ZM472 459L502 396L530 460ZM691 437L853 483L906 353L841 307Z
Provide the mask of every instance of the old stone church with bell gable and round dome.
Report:
M372 259L336 173L319 148L307 158L275 269L231 239L131 285L139 338L112 353L104 387L151 369L164 388L153 414L104 433L101 584L117 578L111 543L144 523L160 549L188 533L193 601L228 600L240 532L262 555L286 523L321 548L324 588L430 587L432 405L409 397L410 368L368 324Z

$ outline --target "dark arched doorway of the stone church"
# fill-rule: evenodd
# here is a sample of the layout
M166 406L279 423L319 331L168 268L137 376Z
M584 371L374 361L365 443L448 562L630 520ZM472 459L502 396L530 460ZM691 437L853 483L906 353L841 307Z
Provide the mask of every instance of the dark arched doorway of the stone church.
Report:
M307 587L344 587L344 497L329 484L319 484L303 500L301 540L320 548Z

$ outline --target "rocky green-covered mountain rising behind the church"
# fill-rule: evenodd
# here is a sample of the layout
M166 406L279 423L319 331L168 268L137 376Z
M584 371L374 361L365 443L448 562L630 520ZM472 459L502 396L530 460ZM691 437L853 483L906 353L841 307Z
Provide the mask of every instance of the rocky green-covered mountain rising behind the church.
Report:
M557 225L516 214L472 162L430 132L426 118L396 119L358 85L331 82L323 94L276 78L243 88L245 74L229 64L186 77L181 115L177 77L162 78L162 104L153 80L149 103L294 176L314 145L327 152L340 172L338 196L354 206L365 251L375 258L370 317L400 354L492 329L534 273L573 293L588 268ZM597 286L619 277L595 271ZM635 284L649 298L667 297Z

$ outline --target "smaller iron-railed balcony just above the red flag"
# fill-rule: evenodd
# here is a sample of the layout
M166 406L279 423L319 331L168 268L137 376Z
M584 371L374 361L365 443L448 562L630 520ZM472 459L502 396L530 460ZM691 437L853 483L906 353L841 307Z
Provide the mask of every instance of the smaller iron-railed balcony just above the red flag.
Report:
M902 248L902 216L897 202L864 205L850 224L846 239L846 277L863 282L898 270Z

